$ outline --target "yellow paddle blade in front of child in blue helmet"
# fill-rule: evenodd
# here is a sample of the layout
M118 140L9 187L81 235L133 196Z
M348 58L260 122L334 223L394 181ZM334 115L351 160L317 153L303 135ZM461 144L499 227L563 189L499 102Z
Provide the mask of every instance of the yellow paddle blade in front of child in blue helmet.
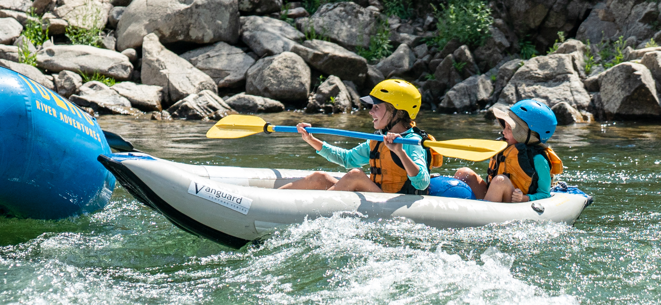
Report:
M491 158L507 147L505 141L480 139L458 139L449 141L424 141L425 147L447 156L469 161L482 161Z

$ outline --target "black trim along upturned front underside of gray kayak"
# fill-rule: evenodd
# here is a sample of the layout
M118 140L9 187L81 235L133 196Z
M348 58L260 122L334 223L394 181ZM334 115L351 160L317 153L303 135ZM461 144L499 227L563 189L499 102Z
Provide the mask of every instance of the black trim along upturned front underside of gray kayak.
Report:
M216 230L188 217L188 215L185 215L184 213L181 213L169 205L165 200L161 199L159 195L154 193L149 186L142 182L142 180L124 166L122 162L112 160L112 158L104 154L99 154L97 160L117 178L117 181L119 181L133 197L136 197L138 201L144 203L148 207L161 212L163 216L169 219L178 228L231 248L238 249L250 242L250 240L231 236L227 233Z

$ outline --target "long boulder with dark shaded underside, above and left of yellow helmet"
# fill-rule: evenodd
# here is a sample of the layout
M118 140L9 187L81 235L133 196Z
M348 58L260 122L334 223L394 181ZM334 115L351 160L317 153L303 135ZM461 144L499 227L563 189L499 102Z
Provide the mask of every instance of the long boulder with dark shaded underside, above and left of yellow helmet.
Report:
M338 44L323 40L306 40L303 46L295 45L297 53L313 68L340 79L362 86L368 74L368 61Z

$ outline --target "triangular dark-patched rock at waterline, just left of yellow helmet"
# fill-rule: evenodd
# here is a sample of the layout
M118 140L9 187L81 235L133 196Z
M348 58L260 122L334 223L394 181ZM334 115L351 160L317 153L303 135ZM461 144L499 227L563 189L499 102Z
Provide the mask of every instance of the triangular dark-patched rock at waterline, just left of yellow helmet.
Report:
M309 114L319 113L341 113L351 111L353 106L352 97L344 83L339 77L331 75L319 85L317 92L307 103L305 112Z

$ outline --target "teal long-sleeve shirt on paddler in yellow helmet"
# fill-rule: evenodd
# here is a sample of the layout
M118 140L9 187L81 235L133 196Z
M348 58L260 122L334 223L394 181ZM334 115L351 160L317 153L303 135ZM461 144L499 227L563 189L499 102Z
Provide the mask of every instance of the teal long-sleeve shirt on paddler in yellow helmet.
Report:
M406 133L407 134L403 135L403 137L407 139L422 139L419 135L413 133L412 129L408 129ZM411 180L411 184L416 189L426 189L429 186L430 176L424 149L420 145L407 144L402 145L402 149L404 149L411 160L413 160L413 162L418 165L418 168L420 168L420 171L418 171L416 176L411 177L407 175L408 179ZM323 156L326 160L344 166L344 168L359 168L365 164L369 164L369 140L361 143L353 149L343 149L324 142L321 151L317 151L317 154Z

